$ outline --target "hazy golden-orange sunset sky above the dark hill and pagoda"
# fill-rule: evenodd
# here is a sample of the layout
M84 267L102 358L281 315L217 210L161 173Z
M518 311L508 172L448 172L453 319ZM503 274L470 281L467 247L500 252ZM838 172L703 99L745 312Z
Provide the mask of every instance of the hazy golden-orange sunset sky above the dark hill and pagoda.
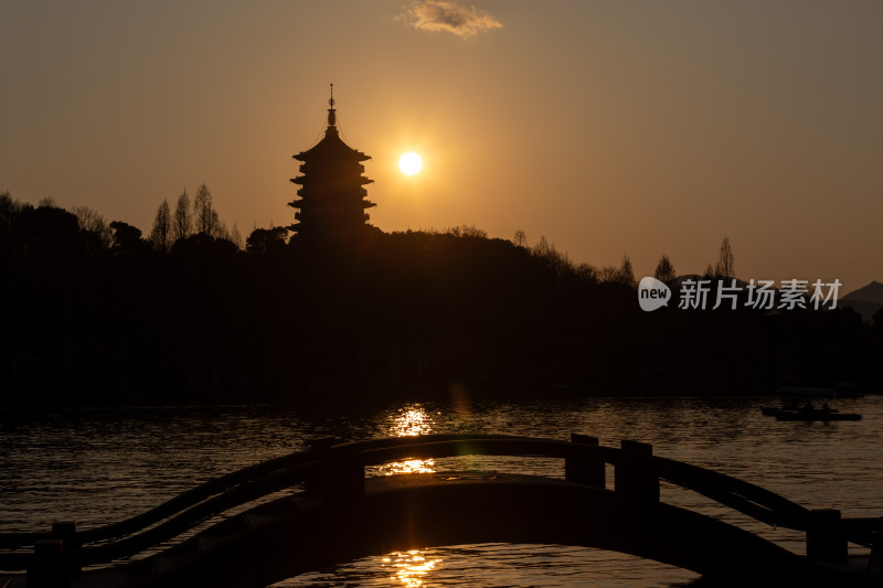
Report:
M727 235L744 279L848 291L883 280L881 31L879 1L9 0L0 191L148 233L204 182L243 235L289 224L333 82L383 231L521 228L638 277Z

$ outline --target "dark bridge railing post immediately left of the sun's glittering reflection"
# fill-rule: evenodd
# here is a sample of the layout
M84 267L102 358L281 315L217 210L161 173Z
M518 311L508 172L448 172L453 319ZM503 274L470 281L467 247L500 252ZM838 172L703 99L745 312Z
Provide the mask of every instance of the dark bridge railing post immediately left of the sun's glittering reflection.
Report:
M328 501L355 501L365 494L365 468L354 450L331 450L332 437L310 443L317 459L327 460L307 473L305 492Z

